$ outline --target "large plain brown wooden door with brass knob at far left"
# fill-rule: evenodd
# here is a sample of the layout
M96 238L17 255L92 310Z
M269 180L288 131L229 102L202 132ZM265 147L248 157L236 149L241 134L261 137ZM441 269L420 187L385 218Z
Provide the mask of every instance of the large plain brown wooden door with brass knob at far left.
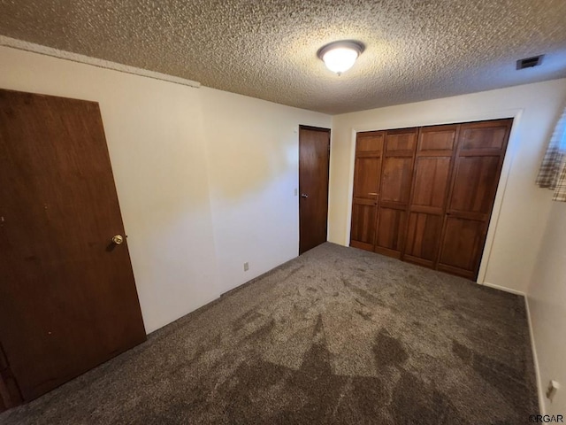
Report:
M98 104L0 90L0 182L0 393L12 406L146 335L127 243L111 243L125 235Z

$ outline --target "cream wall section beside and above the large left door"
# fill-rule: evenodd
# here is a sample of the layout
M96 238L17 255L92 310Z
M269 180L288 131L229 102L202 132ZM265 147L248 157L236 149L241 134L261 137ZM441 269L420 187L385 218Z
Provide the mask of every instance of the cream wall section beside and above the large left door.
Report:
M218 296L199 91L0 47L0 87L96 101L146 331Z

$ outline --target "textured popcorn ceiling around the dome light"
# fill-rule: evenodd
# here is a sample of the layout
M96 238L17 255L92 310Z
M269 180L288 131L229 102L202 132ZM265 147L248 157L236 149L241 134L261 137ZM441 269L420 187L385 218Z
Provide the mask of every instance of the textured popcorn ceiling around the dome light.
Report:
M566 77L565 22L565 0L0 0L0 35L328 113ZM366 50L339 77L317 50L341 39Z

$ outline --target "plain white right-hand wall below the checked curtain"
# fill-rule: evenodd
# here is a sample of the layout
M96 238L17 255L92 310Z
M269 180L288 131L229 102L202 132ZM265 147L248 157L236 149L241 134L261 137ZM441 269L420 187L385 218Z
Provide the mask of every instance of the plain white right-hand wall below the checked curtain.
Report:
M539 362L540 388L551 379L562 384L552 403L541 397L546 412L566 414L566 203L551 202L547 229L532 274L527 302Z

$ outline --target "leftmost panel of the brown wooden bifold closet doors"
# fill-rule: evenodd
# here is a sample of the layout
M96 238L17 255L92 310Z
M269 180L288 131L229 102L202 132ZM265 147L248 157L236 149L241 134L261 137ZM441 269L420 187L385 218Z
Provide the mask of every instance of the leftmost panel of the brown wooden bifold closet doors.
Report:
M384 131L356 135L350 246L373 251Z

